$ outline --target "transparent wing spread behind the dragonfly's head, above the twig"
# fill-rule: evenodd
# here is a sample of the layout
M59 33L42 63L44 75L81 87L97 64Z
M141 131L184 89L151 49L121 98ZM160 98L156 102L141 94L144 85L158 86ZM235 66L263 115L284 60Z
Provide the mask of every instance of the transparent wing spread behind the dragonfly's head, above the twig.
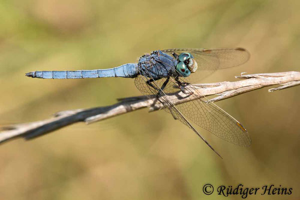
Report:
M244 48L172 48L162 50L162 52L169 55L172 55L173 52L177 54L189 52L194 56L198 69L192 74L190 83L198 82L217 69L243 64L250 57L250 53Z

